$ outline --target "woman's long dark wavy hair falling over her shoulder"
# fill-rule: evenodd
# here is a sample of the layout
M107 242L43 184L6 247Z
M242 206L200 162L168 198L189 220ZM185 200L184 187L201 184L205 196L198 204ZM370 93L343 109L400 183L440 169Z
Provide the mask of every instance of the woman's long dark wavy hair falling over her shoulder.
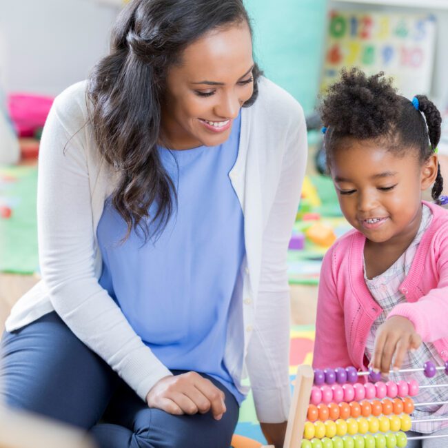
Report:
M156 148L167 70L205 33L243 22L250 27L242 0L132 0L119 15L110 54L92 70L87 94L96 144L121 174L112 204L128 225L124 239L132 228L145 239L162 232L176 202ZM260 74L255 65L245 107L256 99Z

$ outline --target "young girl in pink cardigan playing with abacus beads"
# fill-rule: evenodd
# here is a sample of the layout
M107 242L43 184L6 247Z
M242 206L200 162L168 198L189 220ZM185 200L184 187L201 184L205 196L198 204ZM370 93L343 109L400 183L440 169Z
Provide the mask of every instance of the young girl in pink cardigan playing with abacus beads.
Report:
M389 374L448 360L448 212L422 201L442 176L440 113L426 96L396 94L383 73L343 71L322 106L325 151L341 210L354 227L325 255L320 274L314 367ZM325 129L325 128L324 128ZM447 383L445 372L394 372L391 380ZM448 434L448 388L422 389L412 418L418 433ZM411 436L411 434L408 434ZM415 435L415 434L412 434ZM415 445L412 445L415 444ZM417 445L418 444L418 445ZM446 447L448 438L409 441Z

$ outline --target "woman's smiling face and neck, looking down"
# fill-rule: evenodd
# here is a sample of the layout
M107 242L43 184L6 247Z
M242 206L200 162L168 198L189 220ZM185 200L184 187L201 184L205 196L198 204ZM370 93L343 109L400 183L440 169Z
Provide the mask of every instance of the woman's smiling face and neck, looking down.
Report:
M214 30L189 45L167 72L163 143L174 150L226 141L254 90L252 37L247 23Z

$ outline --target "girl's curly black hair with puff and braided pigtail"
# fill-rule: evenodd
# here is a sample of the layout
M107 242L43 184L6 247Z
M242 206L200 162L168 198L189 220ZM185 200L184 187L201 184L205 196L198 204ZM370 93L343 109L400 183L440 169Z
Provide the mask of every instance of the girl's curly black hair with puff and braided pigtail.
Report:
M392 80L383 72L367 77L358 68L343 69L341 79L330 86L320 106L325 132L325 153L332 154L343 139L374 140L390 151L418 151L421 163L434 154L440 140L440 112L425 95L416 95L414 104L396 93ZM423 118L422 114L425 116ZM425 120L426 119L426 120ZM431 191L436 201L443 189L440 165Z

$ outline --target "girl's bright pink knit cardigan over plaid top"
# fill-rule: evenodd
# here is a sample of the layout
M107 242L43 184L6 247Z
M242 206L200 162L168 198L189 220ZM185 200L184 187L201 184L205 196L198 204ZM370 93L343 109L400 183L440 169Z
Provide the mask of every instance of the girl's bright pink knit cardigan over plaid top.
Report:
M433 214L409 274L400 285L407 303L391 316L407 317L424 342L448 360L448 210L425 202ZM314 345L315 368L366 369L365 342L381 313L364 280L365 236L351 230L330 247L320 271Z

